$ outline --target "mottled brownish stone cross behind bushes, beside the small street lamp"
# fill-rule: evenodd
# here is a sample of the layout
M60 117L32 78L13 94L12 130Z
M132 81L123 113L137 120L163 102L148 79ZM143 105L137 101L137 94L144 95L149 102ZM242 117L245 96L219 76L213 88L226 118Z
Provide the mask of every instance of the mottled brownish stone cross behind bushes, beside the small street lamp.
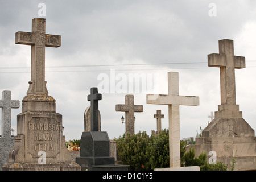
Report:
M125 112L125 133L134 134L134 112L143 112L143 105L134 105L134 96L126 95L125 104L115 105L115 111Z

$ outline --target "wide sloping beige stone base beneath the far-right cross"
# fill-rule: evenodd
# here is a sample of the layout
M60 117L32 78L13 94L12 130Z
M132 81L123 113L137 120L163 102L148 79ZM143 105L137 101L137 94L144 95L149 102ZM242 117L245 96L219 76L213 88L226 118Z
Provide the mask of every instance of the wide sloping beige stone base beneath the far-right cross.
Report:
M207 160L216 152L216 160L231 169L233 159L236 161L234 170L256 170L256 137L254 130L242 118L215 118L203 130L202 137L196 138L195 156L206 152Z

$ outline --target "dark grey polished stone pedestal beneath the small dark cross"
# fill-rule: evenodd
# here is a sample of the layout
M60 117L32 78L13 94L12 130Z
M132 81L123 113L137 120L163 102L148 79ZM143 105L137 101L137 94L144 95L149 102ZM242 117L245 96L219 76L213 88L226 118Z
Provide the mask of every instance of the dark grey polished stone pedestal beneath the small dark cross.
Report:
M76 158L76 163L81 166L81 170L104 170L110 169L119 171L123 165L115 165L115 158L110 157L110 140L105 131L83 132L80 140L80 157ZM127 171L128 166L126 166Z

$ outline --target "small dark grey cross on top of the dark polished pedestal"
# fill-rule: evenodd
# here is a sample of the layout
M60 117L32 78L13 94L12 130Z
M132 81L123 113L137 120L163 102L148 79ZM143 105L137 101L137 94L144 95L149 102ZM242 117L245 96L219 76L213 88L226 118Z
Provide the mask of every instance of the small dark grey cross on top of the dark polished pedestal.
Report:
M90 101L90 131L98 131L98 101L101 100L101 94L97 87L90 88L87 100Z

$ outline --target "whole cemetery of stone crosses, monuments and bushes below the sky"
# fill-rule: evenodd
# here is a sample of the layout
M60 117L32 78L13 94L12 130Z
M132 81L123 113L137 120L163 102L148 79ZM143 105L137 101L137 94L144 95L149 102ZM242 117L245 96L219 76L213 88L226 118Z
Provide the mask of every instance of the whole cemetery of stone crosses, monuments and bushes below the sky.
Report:
M24 23L26 21L24 20ZM11 91L2 91L2 135L0 169L3 171L200 171L256 170L256 137L243 119L236 103L235 69L245 68L245 57L234 56L233 40L219 40L219 53L208 55L208 67L220 68L221 104L218 111L196 138L187 144L180 138L180 106L199 106L199 96L180 96L179 72L166 72L168 94L145 94L146 104L155 108L156 131L135 133L134 113L145 107L136 96L125 95L125 104L115 104L116 112L125 112L125 134L110 141L101 131L100 105L104 100L97 87L90 88L89 107L84 112L81 138L65 141L62 115L56 112L56 100L49 96L45 80L45 47L60 47L61 35L46 34L46 19L32 19L31 32L16 32L15 44L31 46L31 80L17 116L17 135L11 137L11 109L20 107ZM67 83L68 84L68 83ZM18 92L18 90L12 90ZM159 90L164 92L164 90ZM188 93L189 94L189 93ZM120 101L119 103L122 103ZM159 105L168 105L161 113ZM81 113L82 116L82 113ZM161 119L168 118L168 129ZM82 118L81 118L82 122ZM216 158L207 154L214 151ZM214 154L215 154L214 153ZM214 160L214 164L209 164Z

